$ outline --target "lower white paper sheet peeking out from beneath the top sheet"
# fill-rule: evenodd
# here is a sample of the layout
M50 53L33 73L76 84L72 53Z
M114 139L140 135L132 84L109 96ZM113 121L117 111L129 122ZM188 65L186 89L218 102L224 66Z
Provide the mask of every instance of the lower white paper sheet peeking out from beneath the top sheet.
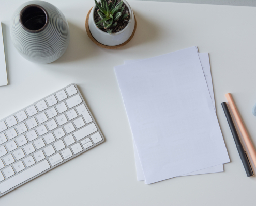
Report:
M208 86L208 90L210 93L210 97L212 98L212 102L213 102L213 106L215 108L215 100L214 100L214 91L213 91L213 82L212 82L212 74L210 72L210 62L209 62L209 54L208 53L200 53L199 54L199 59L202 65L202 71L204 73L204 77ZM134 62L138 62L141 61L143 59L135 59L135 60L126 60L125 64L129 64L129 63L134 63ZM132 138L133 139L133 138ZM137 147L133 141L133 147L134 147L134 158L135 158L135 165L136 165L136 173L137 173L137 180L138 181L142 181L145 180L144 177L144 173L143 173L143 169L141 166L141 162L139 159L139 155L138 155L138 151L137 151ZM207 174L207 173L219 173L222 172L223 170L223 165L216 165L213 167L208 167L205 169L201 169L198 171L193 171L192 173L188 173L185 175L181 175L181 176L188 176L188 175L201 175L201 174Z

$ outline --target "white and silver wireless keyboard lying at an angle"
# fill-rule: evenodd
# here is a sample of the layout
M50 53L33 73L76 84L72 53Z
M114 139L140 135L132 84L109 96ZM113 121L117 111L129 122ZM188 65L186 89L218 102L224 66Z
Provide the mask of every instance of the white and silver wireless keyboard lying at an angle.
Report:
M104 142L76 84L0 121L0 197Z

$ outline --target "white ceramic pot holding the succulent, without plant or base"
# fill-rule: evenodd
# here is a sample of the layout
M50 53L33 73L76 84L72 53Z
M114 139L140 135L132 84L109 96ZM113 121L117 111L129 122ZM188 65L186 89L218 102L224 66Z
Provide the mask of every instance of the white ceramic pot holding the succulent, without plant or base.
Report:
M96 23L94 21L94 11L96 6L94 5L93 9L91 10L91 13L89 15L89 29L94 39L96 39L96 41L98 41L99 43L107 46L116 46L126 42L132 35L133 29L135 26L134 14L130 5L125 0L123 1L124 1L124 4L129 9L129 13L130 13L129 23L126 25L126 27L122 31L113 33L111 35L97 28Z

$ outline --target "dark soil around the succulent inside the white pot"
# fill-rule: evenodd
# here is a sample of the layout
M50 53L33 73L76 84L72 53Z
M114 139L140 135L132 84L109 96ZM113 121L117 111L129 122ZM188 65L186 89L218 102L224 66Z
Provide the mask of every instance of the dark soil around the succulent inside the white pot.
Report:
M110 2L114 3L114 0L112 0L112 1L111 1L111 0L108 0L107 2L108 2L108 5L109 5ZM119 2L121 2L121 0L117 0L117 1L116 1L116 5L117 5ZM129 23L129 20L130 20L130 13L129 13L129 9L128 9L128 7L125 5L125 3L123 3L123 7L124 7L124 11L123 11L122 15L125 14L125 13L128 13L129 15L128 15L125 19L123 19L123 20L121 20L121 18L119 18L119 19L117 20L117 25L116 25L115 27L110 27L110 28L104 29L104 28L103 28L103 23L101 23L101 24L100 24L100 25L102 26L102 28L100 28L101 31L107 32L107 30L113 29L113 30L112 30L112 33L117 33L117 32L119 32L119 31L122 31L122 30L127 26L127 24ZM121 16L122 16L122 15L121 15ZM101 20L101 18L100 18L100 16L99 16L99 14L98 14L98 12L97 12L97 8L96 8L95 11L94 11L94 21L95 21L95 23L97 23L97 22L99 22L100 20Z

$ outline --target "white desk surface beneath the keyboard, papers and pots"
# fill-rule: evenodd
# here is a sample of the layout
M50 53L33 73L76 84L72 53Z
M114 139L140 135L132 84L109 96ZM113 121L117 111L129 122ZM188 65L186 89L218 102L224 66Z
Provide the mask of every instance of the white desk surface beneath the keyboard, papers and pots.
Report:
M256 177L247 178L221 102L232 93L256 145L256 8L129 1L137 31L118 50L96 46L85 32L94 1L50 1L66 16L66 53L47 65L23 59L11 43L14 10L25 1L1 1L9 84L0 87L0 119L74 82L106 142L0 198L0 205L254 205ZM132 134L113 67L198 46L209 52L216 108L231 163L224 173L138 182ZM256 169L254 167L254 173Z

